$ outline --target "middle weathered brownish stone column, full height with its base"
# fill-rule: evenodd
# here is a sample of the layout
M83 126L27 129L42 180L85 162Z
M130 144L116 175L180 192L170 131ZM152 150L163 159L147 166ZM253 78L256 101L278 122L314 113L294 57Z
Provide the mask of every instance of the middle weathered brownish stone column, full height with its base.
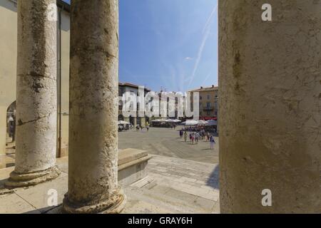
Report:
M71 1L69 213L118 213L118 1Z

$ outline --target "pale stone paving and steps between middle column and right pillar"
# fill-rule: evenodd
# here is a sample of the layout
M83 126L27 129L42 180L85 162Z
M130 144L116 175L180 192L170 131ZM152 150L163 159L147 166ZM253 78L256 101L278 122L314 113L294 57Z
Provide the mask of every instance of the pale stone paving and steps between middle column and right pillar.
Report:
M166 213L219 213L218 176L218 165L153 155L146 180L125 190L131 202L138 199L158 205ZM137 212L146 211L138 207Z

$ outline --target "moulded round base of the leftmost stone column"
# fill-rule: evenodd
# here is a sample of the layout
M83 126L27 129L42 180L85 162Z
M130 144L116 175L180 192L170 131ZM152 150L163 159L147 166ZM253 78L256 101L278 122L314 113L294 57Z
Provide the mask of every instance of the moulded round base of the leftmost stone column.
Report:
M42 182L56 179L61 174L58 166L49 168L48 170L43 170L39 172L30 173L17 173L11 172L9 180L4 183L5 187L15 188L15 187L29 187L38 185Z

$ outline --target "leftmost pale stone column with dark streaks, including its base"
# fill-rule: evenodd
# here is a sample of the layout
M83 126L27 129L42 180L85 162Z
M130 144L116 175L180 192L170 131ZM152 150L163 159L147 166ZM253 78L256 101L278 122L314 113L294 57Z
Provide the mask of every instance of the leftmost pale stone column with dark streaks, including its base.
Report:
M16 167L7 187L36 185L59 175L56 167L55 0L18 1Z

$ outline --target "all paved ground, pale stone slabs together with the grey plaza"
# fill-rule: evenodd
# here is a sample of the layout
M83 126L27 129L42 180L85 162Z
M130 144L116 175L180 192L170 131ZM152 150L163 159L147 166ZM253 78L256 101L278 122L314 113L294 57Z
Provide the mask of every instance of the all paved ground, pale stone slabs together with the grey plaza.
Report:
M192 145L179 137L179 130L150 128L119 133L119 149L146 150L148 176L124 188L128 202L123 213L219 213L218 138ZM9 142L9 141L8 141ZM68 157L58 158L63 171L58 179L35 187L4 190L14 170L14 144L7 147L7 167L0 170L0 213L60 213L49 207L48 191L58 191L58 204L67 192ZM1 190L2 188L2 190Z

